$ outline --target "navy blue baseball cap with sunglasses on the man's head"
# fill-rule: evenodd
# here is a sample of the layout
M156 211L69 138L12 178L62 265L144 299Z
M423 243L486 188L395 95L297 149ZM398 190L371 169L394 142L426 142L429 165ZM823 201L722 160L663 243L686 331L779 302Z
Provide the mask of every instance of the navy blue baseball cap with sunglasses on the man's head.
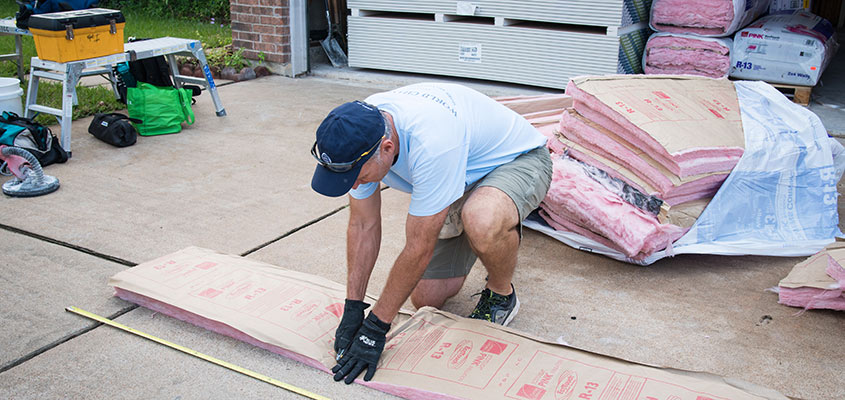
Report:
M311 148L319 163L311 188L330 197L349 192L383 136L384 119L375 106L353 101L332 110L317 128Z

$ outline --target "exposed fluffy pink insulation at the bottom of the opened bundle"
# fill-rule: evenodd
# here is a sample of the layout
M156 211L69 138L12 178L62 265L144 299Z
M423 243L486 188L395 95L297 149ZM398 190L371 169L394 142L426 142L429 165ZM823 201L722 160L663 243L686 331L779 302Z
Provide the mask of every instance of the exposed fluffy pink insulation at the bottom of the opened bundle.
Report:
M670 246L685 232L675 225L660 224L653 215L625 202L569 157L554 158L552 184L543 204L547 212L565 215L607 238L632 259Z

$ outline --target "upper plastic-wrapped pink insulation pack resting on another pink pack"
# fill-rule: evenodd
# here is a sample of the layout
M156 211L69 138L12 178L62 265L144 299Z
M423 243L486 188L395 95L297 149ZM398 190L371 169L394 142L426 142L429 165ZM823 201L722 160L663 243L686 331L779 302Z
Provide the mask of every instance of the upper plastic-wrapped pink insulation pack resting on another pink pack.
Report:
M771 0L654 0L651 28L658 32L728 36L769 9Z

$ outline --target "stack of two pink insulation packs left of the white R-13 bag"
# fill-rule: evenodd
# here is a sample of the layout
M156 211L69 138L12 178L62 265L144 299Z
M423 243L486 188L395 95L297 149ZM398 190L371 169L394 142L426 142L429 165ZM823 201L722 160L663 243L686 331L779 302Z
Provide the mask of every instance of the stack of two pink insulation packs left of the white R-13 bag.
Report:
M654 0L653 34L643 52L646 74L725 78L730 36L768 10L770 0Z

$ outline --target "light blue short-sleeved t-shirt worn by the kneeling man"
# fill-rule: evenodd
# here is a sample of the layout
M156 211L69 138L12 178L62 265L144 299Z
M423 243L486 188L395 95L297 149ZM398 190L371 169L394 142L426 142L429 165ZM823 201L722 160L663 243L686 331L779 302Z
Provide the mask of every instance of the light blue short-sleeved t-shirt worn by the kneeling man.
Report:
M470 88L420 83L365 100L393 116L399 158L382 182L411 193L408 213L434 215L487 173L546 138L516 112ZM350 191L371 196L378 182Z

